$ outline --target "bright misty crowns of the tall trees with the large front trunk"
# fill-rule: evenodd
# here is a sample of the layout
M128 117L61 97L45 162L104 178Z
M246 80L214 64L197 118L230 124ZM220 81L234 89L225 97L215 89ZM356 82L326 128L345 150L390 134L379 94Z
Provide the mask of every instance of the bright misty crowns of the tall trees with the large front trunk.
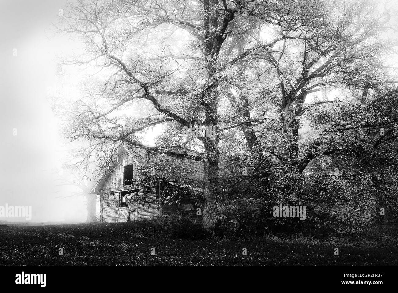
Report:
M348 85L366 98L392 82L380 61L394 45L381 35L391 16L376 8L323 0L71 4L59 28L79 37L84 53L64 64L97 78L68 108L66 137L90 141L82 155L101 172L120 142L203 162L203 219L213 229L220 162L249 151L257 163L302 172L322 145L300 138L304 113L329 104L305 106L308 95ZM156 146L144 144L160 124ZM207 134L184 135L191 126Z

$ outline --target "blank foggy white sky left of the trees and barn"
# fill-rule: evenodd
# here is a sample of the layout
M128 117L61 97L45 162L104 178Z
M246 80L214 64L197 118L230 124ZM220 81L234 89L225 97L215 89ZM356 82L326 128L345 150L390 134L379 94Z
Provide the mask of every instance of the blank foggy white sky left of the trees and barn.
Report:
M0 2L0 205L32 206L31 222L79 222L87 214L84 198L57 198L69 196L72 189L57 186L53 172L62 163L65 147L46 95L57 85L55 53L68 44L49 40L46 31L57 20L62 3Z

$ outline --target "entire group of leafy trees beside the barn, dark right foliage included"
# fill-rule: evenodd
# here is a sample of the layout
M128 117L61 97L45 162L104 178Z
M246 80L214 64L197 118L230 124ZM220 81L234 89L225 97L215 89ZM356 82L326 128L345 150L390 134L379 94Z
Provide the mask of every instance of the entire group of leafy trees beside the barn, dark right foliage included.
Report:
M220 207L227 192L240 206L256 202L261 219L271 203L305 203L336 231L337 208L352 222L351 210L396 199L396 9L370 0L70 4L57 28L83 46L63 65L90 76L59 107L65 136L88 142L80 155L99 172L120 143L203 162L210 228L234 217ZM161 134L147 145L153 128ZM234 182L251 189L232 188L220 169L244 156L252 171Z

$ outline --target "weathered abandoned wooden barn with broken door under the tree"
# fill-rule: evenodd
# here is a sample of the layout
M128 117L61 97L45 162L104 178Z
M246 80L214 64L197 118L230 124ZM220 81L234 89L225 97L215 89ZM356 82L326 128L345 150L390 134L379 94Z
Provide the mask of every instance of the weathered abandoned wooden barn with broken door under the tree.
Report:
M149 153L142 149L121 145L116 153L113 165L92 190L92 193L100 195L101 222L150 220L174 213L196 214L197 206L192 198L202 190L199 187L203 179L201 163L165 156L168 166L173 168L175 165L176 169L180 169L181 165L185 167L187 183L186 180L178 181L177 172L159 179L153 176L154 167L150 169L149 176L144 175L142 170L153 162ZM170 203L168 199L176 194L180 197L179 201Z

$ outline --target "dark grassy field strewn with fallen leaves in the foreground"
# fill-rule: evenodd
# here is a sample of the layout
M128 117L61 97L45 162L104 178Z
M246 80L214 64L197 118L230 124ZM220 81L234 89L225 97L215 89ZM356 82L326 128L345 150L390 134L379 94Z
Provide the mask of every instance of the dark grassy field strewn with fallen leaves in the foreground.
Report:
M0 265L397 265L398 226L368 235L245 242L176 239L151 222L0 226Z

